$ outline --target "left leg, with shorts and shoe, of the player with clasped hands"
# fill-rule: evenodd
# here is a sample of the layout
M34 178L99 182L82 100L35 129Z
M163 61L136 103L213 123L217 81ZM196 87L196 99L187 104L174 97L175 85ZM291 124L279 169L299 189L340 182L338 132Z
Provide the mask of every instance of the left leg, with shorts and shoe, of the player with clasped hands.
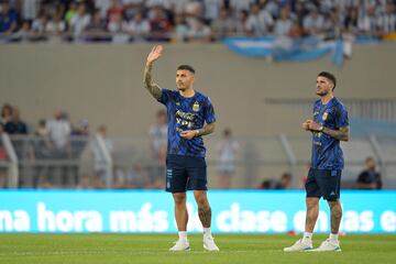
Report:
M310 251L312 250L312 232L319 215L319 198L321 196L320 188L316 180L316 169L310 168L305 185L306 188L306 222L305 232L292 246L284 248L286 252Z

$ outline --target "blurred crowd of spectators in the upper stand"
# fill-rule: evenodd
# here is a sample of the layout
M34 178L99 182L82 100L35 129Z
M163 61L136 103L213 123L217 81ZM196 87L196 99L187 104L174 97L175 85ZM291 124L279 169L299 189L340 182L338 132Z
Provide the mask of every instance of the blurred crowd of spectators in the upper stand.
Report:
M393 38L395 0L2 0L0 42Z

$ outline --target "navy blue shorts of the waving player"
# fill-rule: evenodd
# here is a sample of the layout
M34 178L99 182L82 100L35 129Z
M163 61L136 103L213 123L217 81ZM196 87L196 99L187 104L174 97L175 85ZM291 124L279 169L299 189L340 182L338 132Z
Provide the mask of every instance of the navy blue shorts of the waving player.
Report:
M208 190L205 157L167 155L166 191Z

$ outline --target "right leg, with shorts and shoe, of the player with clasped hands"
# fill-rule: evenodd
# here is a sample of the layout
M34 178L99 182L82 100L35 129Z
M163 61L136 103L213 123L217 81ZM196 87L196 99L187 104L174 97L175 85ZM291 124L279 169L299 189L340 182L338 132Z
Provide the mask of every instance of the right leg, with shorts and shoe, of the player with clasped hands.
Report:
M315 251L341 251L339 242L339 229L342 218L340 198L341 170L327 170L319 179L323 198L330 207L331 232L329 239L323 241Z

